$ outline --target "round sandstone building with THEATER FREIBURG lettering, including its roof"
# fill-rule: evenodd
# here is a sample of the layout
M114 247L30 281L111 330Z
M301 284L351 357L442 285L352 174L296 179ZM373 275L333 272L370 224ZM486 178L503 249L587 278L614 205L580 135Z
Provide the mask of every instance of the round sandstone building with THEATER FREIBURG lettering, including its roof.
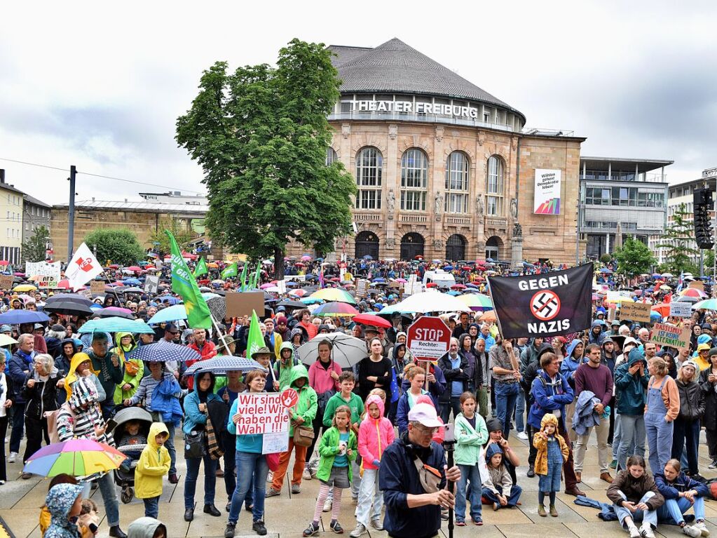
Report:
M329 48L343 83L327 161L358 189L338 254L575 262L585 138L526 128L519 110L399 39Z

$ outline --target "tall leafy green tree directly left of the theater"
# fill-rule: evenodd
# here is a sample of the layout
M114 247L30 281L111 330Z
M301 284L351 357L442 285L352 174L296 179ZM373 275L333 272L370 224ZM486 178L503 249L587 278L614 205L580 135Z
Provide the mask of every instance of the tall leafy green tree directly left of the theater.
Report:
M226 62L204 71L199 95L177 120L176 141L204 169L212 240L283 275L288 242L320 252L351 230L356 186L343 165L326 166L339 98L331 52L293 39L277 67Z

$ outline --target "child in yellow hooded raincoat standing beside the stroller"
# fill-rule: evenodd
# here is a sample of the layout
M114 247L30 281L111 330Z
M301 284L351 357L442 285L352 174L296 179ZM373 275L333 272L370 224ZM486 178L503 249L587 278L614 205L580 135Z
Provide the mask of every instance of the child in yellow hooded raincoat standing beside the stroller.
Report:
M159 496L162 494L162 477L169 472L171 458L164 446L169 430L164 423L152 423L147 435L147 445L135 468L135 494L144 501L144 515L159 515Z

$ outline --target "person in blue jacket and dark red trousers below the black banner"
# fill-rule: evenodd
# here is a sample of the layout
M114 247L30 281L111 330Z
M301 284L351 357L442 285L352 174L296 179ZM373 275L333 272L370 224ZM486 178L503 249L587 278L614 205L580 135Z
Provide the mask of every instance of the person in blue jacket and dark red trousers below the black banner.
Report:
M565 429L565 406L573 401L573 390L559 373L560 359L554 353L543 353L540 358L541 370L538 377L533 379L531 396L533 405L528 415L528 423L536 430L541 429L541 420L546 413L558 417L558 433L568 444L568 460L563 463L565 474L565 493L568 495L585 495L578 488L578 481L573 468L573 449Z

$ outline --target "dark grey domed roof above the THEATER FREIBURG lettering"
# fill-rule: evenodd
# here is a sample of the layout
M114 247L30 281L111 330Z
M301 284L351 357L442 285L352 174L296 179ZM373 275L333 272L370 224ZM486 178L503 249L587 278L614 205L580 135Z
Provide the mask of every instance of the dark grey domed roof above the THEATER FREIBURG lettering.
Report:
M477 100L512 110L525 121L523 113L400 39L391 39L374 49L337 45L328 48L338 55L332 61L343 80L342 93L413 93Z

